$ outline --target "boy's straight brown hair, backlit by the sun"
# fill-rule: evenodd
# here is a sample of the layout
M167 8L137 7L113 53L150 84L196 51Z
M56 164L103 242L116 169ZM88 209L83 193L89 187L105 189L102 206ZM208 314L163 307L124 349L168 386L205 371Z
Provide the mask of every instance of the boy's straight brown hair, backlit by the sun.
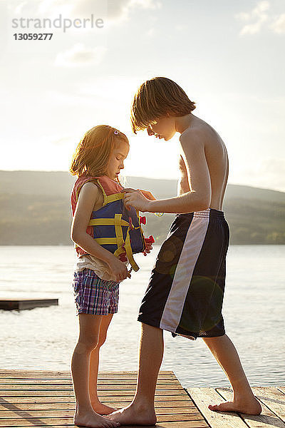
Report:
M167 113L171 116L185 116L195 109L185 91L166 77L154 77L142 83L133 99L131 123L137 133Z

